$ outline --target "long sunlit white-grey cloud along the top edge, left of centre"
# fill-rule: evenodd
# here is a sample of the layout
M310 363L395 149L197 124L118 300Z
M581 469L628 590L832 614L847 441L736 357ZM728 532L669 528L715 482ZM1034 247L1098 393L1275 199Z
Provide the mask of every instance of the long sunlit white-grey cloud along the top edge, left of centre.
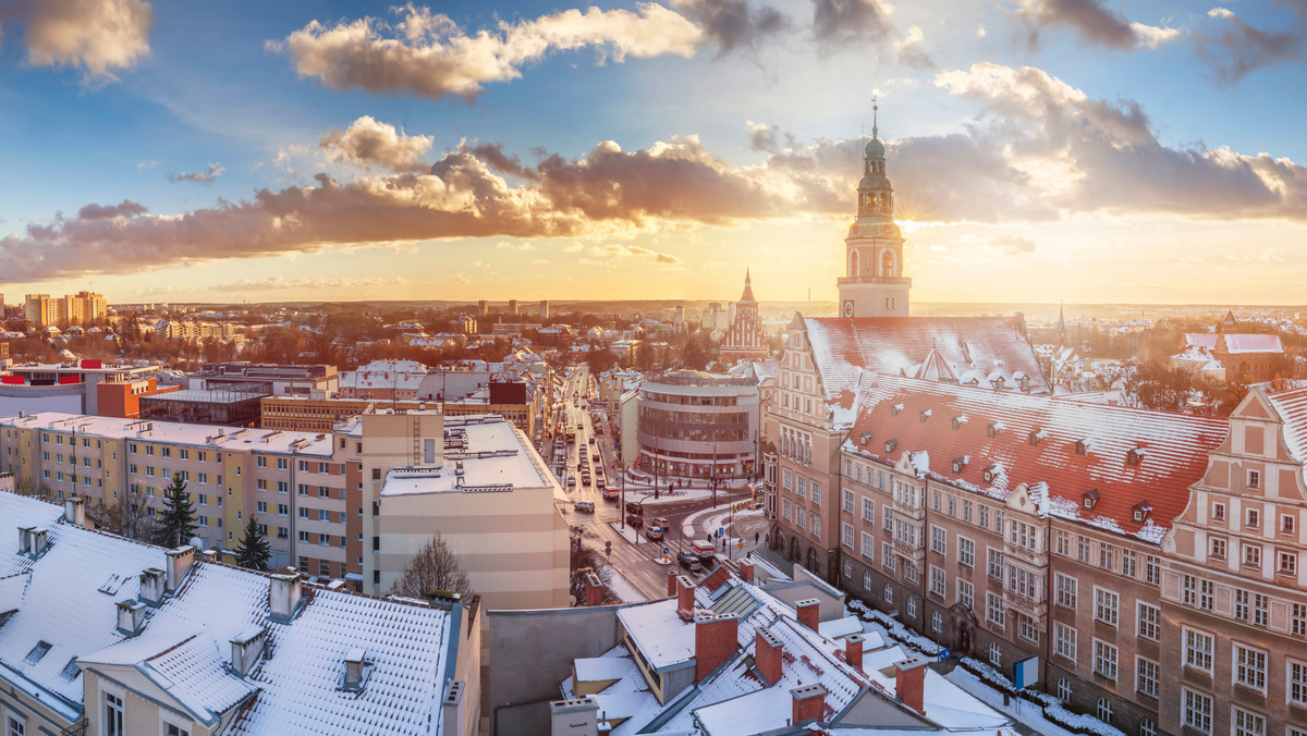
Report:
M685 16L656 3L640 4L637 12L569 9L515 24L499 21L498 27L473 35L427 8L408 4L395 12L400 16L395 24L372 17L333 26L312 21L268 47L288 52L301 77L316 77L332 89L471 101L485 92L482 85L519 78L523 65L550 52L592 48L601 63L627 56L690 58L708 38Z

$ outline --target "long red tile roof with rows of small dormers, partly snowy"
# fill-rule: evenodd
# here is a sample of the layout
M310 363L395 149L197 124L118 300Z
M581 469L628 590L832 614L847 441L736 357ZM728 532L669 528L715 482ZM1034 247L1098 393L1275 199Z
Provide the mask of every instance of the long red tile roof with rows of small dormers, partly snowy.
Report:
M993 498L1027 484L1043 514L1154 544L1184 511L1208 452L1229 431L1217 418L873 375L859 383L856 414L847 451L887 463L924 452L932 478ZM999 427L995 437L991 425ZM1033 437L1038 443L1031 444ZM889 441L895 444L886 452ZM1131 464L1132 451L1138 464ZM954 472L961 458L966 463ZM1082 499L1090 490L1099 498L1086 510ZM1132 519L1141 501L1153 509L1144 524Z

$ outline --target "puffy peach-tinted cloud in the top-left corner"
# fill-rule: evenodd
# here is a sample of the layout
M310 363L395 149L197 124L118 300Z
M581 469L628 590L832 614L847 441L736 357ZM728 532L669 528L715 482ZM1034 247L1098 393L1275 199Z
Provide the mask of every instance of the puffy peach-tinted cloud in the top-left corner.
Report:
M82 69L82 82L115 82L150 52L154 8L144 0L33 0L24 39L37 67ZM18 10L20 13L22 10Z

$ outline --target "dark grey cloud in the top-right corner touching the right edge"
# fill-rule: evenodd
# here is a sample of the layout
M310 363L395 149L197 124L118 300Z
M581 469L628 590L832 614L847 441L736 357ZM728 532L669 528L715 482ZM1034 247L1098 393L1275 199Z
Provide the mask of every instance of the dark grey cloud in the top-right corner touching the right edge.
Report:
M1234 84L1248 73L1281 61L1303 61L1303 29L1270 33L1253 27L1226 8L1213 8L1208 16L1217 27L1200 33L1195 47L1212 68L1217 81Z

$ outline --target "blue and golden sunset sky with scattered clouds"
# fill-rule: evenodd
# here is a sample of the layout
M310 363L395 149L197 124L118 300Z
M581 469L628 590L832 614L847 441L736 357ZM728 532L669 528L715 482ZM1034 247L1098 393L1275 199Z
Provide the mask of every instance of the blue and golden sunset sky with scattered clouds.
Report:
M1307 0L0 0L0 293L1307 302Z

